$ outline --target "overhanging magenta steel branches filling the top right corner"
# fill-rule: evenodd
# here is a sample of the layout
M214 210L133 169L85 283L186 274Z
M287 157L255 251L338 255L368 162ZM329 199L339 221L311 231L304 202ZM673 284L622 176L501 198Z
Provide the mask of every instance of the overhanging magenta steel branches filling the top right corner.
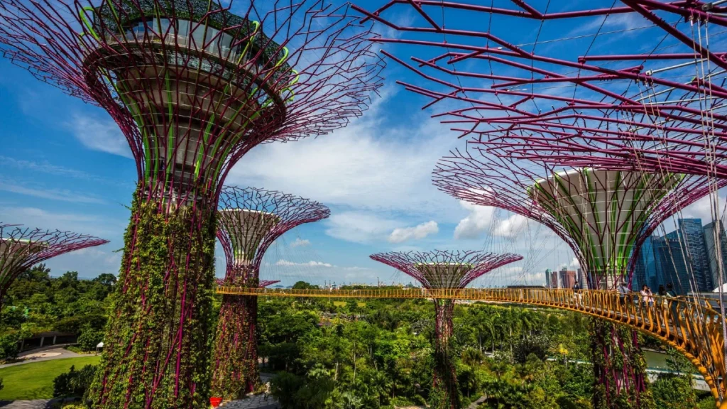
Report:
M399 83L430 99L425 108L445 106L434 116L460 135L496 142L523 159L727 177L725 7L621 0L574 9L549 2L553 12L512 3L393 0L375 11L356 9L362 22L399 33L374 41L430 51L413 63L382 52L422 79ZM418 18L396 24L393 17L405 10ZM494 20L507 21L505 30ZM523 32L533 33L529 42L511 40L523 41ZM608 52L594 54L602 44Z

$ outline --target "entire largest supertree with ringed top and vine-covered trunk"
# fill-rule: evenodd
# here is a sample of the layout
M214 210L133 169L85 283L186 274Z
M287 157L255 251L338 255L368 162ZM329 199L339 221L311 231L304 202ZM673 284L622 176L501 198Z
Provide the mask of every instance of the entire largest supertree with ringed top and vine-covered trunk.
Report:
M100 106L138 183L89 397L97 408L191 408L208 392L216 204L260 143L360 116L382 62L348 6L318 0L8 0L0 49Z

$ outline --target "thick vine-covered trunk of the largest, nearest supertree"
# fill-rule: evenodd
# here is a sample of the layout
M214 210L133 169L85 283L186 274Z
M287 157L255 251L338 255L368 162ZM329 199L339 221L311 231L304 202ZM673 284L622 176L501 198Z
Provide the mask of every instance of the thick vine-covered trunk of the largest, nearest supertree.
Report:
M214 279L215 208L132 204L93 408L201 408Z

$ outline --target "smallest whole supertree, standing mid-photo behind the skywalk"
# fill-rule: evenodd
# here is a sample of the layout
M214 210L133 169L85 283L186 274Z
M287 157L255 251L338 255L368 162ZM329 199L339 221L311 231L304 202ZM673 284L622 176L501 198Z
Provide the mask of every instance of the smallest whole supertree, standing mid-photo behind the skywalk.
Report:
M427 289L464 288L474 279L513 261L521 255L494 254L481 251L390 252L371 255L375 261L385 263L416 279ZM433 387L430 406L434 409L459 409L457 372L451 360L452 312L451 299L434 300L435 352Z

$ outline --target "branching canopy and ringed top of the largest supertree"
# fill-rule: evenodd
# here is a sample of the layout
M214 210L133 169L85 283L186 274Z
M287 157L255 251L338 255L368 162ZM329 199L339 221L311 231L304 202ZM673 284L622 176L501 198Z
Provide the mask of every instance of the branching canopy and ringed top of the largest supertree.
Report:
M108 111L149 197L214 199L250 148L324 135L360 116L384 65L348 6L249 1L237 15L230 7L2 1L0 50Z

